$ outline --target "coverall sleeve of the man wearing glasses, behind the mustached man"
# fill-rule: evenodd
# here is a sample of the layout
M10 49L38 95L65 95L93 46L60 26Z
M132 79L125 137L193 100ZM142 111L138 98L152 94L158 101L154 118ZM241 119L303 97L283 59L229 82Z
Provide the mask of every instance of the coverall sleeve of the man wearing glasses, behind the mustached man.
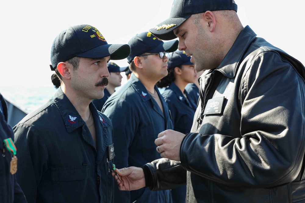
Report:
M138 116L134 114L131 105L124 100L106 102L102 113L112 121L113 143L115 146L116 168L128 167L129 146L131 145L138 124ZM130 191L120 191L114 187L115 202L129 203Z

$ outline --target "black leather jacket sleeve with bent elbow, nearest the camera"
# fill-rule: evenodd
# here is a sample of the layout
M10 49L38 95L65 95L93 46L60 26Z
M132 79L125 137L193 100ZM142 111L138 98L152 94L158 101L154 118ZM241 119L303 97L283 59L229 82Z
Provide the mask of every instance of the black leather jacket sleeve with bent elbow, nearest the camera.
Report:
M304 81L273 51L246 65L238 95L241 109L232 107L241 114L240 135L206 135L208 126L203 125L201 134L190 133L183 140L181 163L228 186L265 188L292 182L305 151Z

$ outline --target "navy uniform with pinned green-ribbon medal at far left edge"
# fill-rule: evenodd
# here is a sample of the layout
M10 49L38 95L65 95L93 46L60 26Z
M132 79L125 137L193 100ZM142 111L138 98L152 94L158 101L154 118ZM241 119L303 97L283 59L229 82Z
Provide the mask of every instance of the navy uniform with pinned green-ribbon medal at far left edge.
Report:
M19 184L16 182L16 174L12 175L10 173L12 155L3 144L3 140L7 138L14 140L13 129L7 124L7 116L7 106L2 94L0 94L0 202L27 202ZM17 168L17 173L19 171L20 168Z

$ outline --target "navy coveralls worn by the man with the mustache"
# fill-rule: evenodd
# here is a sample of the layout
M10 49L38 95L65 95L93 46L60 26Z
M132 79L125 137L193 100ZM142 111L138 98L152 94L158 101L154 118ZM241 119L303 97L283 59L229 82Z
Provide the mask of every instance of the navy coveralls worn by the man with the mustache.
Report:
M109 118L90 103L96 142L61 87L13 129L18 148L17 180L30 203L114 201Z

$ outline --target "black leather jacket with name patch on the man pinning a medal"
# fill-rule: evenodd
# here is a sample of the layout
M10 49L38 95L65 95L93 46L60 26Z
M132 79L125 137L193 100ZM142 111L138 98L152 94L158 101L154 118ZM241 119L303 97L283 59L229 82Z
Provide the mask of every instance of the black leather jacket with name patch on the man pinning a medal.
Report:
M221 65L199 78L181 164L144 166L149 188L187 181L189 203L305 202L304 78L299 61L246 26Z

